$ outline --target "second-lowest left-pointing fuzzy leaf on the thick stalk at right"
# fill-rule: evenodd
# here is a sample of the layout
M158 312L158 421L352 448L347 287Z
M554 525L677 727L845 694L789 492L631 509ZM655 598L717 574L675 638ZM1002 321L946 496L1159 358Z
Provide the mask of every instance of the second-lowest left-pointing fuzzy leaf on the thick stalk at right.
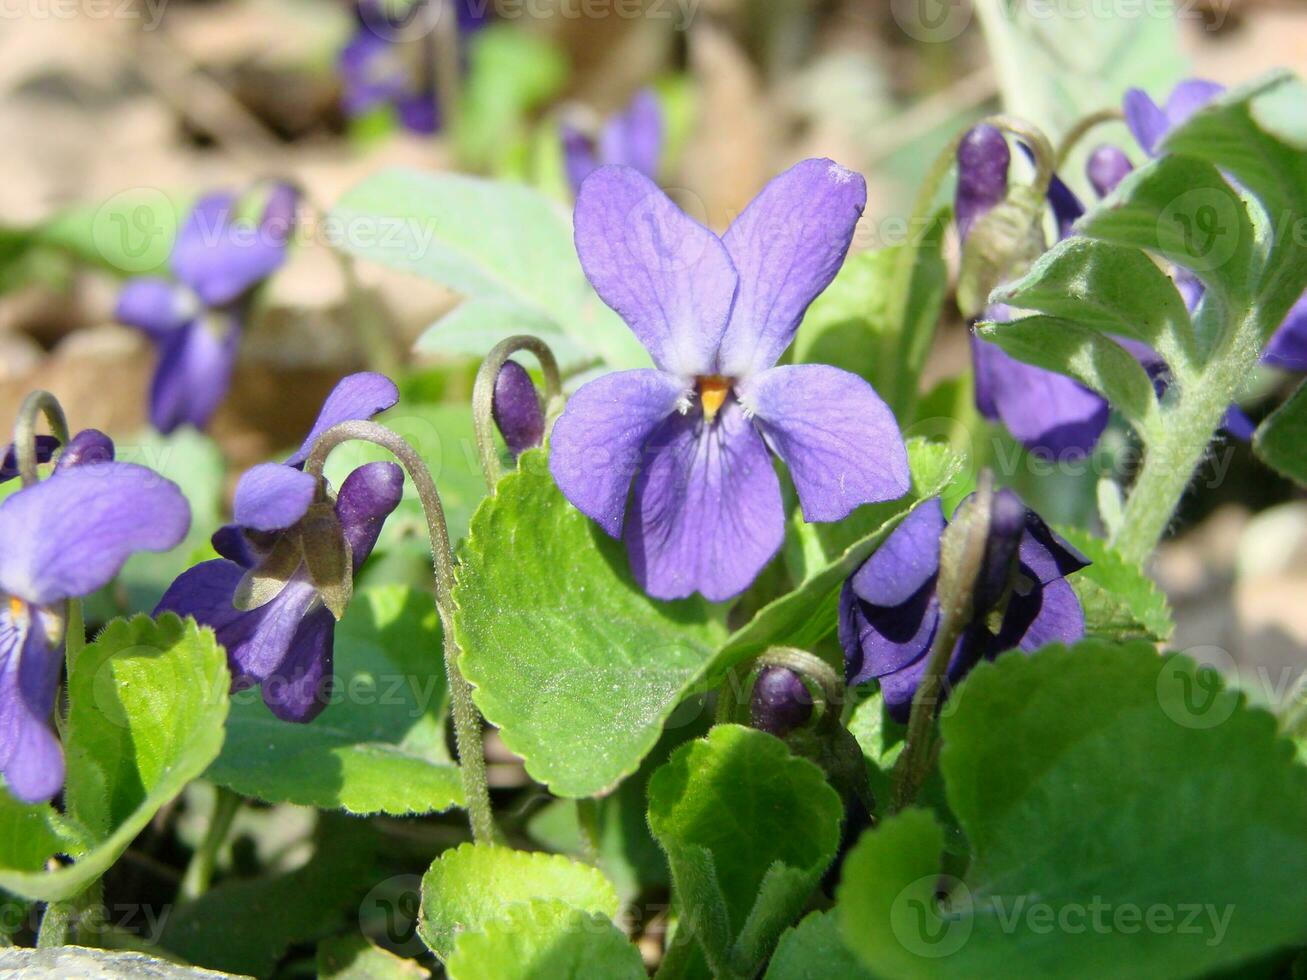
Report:
M1141 341L1180 375L1196 357L1193 325L1175 282L1137 248L1072 235L1022 278L999 286L991 301Z

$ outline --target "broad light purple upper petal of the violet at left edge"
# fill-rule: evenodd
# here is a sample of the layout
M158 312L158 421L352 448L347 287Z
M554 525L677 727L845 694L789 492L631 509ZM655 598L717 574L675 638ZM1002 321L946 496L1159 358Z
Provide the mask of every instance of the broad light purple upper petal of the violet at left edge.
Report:
M176 483L131 463L74 466L0 503L0 592L34 605L86 596L136 551L167 551L191 527Z

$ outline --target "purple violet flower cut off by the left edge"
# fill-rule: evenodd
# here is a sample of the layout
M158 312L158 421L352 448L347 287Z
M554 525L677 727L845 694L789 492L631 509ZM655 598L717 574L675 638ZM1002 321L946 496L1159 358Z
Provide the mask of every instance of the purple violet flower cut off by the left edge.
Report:
M64 784L50 724L64 602L107 585L136 551L175 547L191 525L175 483L112 455L102 433L78 433L47 480L0 503L0 774L25 804Z

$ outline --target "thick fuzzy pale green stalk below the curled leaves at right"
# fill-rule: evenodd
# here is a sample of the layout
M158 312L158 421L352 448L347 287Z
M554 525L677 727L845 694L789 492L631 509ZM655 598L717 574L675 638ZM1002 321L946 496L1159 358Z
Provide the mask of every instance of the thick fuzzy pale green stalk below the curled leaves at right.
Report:
M1142 563L1166 534L1226 409L1256 367L1263 333L1253 306L1208 363L1182 382L1163 423L1145 434L1144 464L1112 538L1128 561Z

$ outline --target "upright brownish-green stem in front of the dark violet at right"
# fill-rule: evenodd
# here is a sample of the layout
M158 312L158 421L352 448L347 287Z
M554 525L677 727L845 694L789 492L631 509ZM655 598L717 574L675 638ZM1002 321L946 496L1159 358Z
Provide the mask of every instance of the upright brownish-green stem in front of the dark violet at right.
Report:
M989 537L989 511L993 500L993 477L988 470L980 474L976 495L966 514L955 514L940 540L940 627L935 634L925 673L912 696L912 712L903 738L903 753L894 767L894 811L902 810L925 783L935 764L935 713L944 679L953 659L953 648L971 621L975 581L984 561L985 541Z

